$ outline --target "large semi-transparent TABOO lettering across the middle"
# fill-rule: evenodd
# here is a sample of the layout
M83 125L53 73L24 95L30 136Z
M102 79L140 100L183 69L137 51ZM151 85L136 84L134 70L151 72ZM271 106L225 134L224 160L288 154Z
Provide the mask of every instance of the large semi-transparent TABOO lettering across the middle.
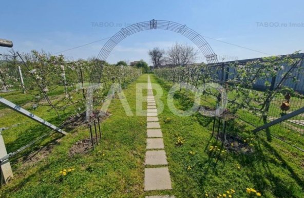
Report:
M143 96L144 90L147 89L147 85L148 85L147 83L136 84L136 115L137 116L147 115L147 110L143 109L143 103L147 101L147 96ZM151 86L152 89L156 92L154 98L158 108L157 112L158 114L161 114L164 109L164 104L161 101L161 98L163 96L163 89L159 84L151 83ZM96 87L95 90L97 90L100 89L101 85L100 86L95 85L95 87ZM186 92L185 94L194 95L193 106L189 109L186 109L185 111L182 111L176 108L175 106L175 94L180 90L185 90ZM215 100L219 100L215 109L212 110L205 109L201 105L201 99L204 93L208 93L208 95L215 98ZM217 93L217 94L212 94L212 93ZM115 94L117 94L119 100L121 101L122 107L124 108L126 115L133 116L134 114L131 111L131 107L129 106L129 103L119 83L114 83L110 87L107 97L103 100L101 111L107 112L108 107L110 106L110 103L114 98ZM90 101L91 99L92 99L92 94L87 94L87 101ZM192 116L196 112L199 112L200 114L207 117L219 116L224 112L227 106L226 91L220 84L217 83L205 83L199 85L198 87L189 83L176 83L169 90L166 100L170 111L173 114L180 117ZM91 108L92 108L91 102L87 102L87 109L91 109Z

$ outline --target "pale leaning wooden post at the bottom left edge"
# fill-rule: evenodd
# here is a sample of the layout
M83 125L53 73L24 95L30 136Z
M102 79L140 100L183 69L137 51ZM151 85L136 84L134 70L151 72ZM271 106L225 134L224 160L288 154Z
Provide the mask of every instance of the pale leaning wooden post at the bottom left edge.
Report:
M1 135L1 130L0 130L0 158L3 158L7 155L7 151L5 148L4 140ZM4 162L0 162L0 168L1 168L1 175L2 177L1 181L4 181L4 183L7 183L12 177L13 177L13 171L11 168L11 164L8 160Z

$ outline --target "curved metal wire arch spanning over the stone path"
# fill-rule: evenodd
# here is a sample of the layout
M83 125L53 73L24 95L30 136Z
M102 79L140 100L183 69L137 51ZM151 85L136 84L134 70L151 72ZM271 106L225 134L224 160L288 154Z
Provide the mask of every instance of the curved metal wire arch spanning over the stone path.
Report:
M92 113L93 91L100 88L99 83L103 70L103 61L107 59L113 48L115 48L115 46L127 36L140 31L152 29L168 30L184 35L195 43L206 58L207 63L218 63L217 55L214 53L209 43L199 33L191 28L188 28L186 25L181 25L168 20L152 19L150 21L143 21L141 23L132 24L126 28L122 28L119 32L109 38L96 58L96 62L90 76L90 85L87 89L87 118L89 118Z

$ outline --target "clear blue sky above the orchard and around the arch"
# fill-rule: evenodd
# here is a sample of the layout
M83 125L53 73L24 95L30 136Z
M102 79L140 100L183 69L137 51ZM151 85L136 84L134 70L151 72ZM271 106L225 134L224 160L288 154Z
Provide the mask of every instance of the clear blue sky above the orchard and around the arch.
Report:
M12 40L14 50L44 50L69 60L96 57L107 39L121 28L151 19L170 20L195 30L219 61L291 54L304 47L302 0L12 0L1 5L5 9L0 12L0 38ZM196 47L181 34L147 30L118 43L106 61L144 59L151 64L148 50L167 50L176 42ZM1 48L0 53L7 50ZM200 53L196 62L202 61Z

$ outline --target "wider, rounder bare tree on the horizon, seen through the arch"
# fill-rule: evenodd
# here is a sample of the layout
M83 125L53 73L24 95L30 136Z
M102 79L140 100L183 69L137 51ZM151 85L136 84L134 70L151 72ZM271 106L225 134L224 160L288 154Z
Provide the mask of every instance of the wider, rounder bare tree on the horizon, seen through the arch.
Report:
M187 64L194 63L197 54L198 52L194 47L177 42L167 51L167 61L174 66L184 67Z

